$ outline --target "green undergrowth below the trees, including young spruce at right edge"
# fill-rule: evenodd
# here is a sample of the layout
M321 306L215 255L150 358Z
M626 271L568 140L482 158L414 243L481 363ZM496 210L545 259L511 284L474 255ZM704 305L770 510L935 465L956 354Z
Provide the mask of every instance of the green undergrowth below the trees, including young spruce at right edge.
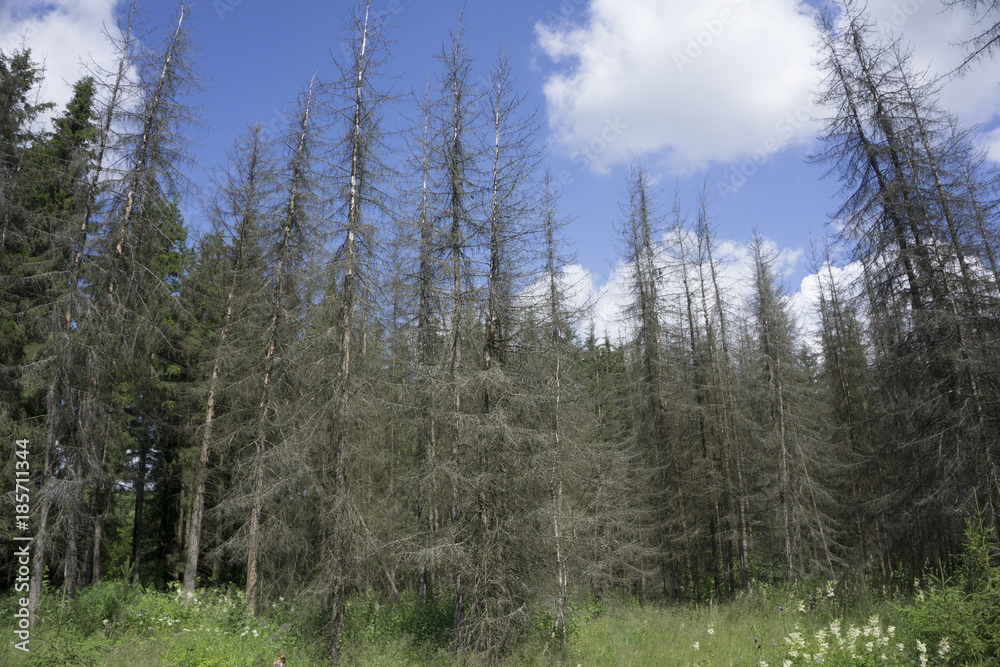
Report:
M1000 566L996 537L981 513L966 531L956 574L902 592L860 578L794 586L758 583L724 604L640 605L634 600L570 606L565 653L548 643L550 610L535 609L505 664L582 665L996 665L1000 664ZM283 650L291 667L327 665L327 600L301 595L247 612L237 588L199 590L186 602L178 586L153 591L117 581L75 595L46 590L30 653L13 648L17 600L0 599L5 635L0 665L55 667L269 667ZM415 595L350 599L343 662L350 665L478 665L490 656L449 646L448 598Z

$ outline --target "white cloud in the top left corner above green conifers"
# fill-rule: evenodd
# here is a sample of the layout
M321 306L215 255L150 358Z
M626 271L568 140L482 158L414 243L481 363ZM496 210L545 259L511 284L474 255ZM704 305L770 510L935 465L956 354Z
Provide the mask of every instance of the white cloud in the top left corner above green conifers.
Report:
M22 46L45 67L40 91L62 107L73 83L84 74L81 59L110 67L114 55L104 38L104 25L114 25L120 0L0 0L0 48L10 53Z

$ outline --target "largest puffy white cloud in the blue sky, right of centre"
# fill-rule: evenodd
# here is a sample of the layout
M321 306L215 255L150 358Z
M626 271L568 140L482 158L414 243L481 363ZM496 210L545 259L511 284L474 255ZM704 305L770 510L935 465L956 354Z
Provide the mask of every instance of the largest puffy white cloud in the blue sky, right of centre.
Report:
M675 172L811 135L810 10L795 0L592 0L586 25L536 26L567 67L545 84L556 141L597 170L656 154Z

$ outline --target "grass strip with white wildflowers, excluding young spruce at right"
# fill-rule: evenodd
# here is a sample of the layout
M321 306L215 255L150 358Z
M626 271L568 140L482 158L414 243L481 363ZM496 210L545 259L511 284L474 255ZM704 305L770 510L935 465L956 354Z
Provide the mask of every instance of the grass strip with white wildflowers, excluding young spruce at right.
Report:
M810 592L818 593L815 610L810 610ZM2 618L11 617L13 602L0 602ZM840 584L835 593L832 584L811 591L759 586L721 605L625 601L598 608L583 601L572 615L565 655L558 640L543 654L547 621L540 613L504 664L760 667L763 662L775 667L785 661L815 664L822 656L828 665L920 665L915 638L895 629L902 626L908 604L908 598L863 584ZM270 667L281 650L290 667L328 665L326 613L324 605L309 600L279 599L254 618L245 612L238 590L199 591L196 601L185 605L176 589L153 592L103 583L65 605L59 604L58 592L49 592L42 622L32 632L31 653L14 650L5 639L0 665ZM355 598L348 609L343 664L487 664L482 656L456 656L448 649L449 616L446 605L421 611L410 597L391 604L373 596ZM3 632L13 636L9 625ZM905 643L904 651L896 650L897 642ZM938 644L924 644L928 665L948 664L937 655Z

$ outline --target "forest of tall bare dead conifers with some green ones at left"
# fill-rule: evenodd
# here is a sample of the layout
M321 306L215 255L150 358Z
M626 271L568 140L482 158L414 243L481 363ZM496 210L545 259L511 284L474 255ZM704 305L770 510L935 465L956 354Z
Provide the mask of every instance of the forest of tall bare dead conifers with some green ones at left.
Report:
M33 102L30 52L0 54L0 433L31 443L32 605L131 564L251 611L316 600L334 658L361 593L440 605L457 648L499 654L540 608L565 641L581 596L909 581L949 567L975 506L997 525L997 165L863 6L817 26L813 159L843 189L814 342L773 246L753 236L736 293L711 193L686 211L641 163L626 334L595 332L538 120L461 20L401 95L362 3L335 75L182 197L189 12L151 31L133 5L64 110Z

